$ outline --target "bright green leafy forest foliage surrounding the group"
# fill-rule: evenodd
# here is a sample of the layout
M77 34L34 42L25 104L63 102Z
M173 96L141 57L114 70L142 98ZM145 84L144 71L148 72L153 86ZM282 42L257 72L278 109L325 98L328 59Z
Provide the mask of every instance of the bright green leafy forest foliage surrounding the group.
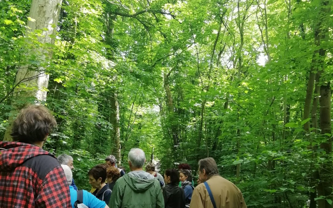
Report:
M0 2L2 135L19 66L43 66L50 76L44 104L58 123L45 148L73 156L79 188L90 189L89 169L115 152L116 98L128 170L133 147L147 162L154 156L161 172L181 162L196 170L211 156L248 207L309 206L320 183L313 176L332 157L321 147L331 133L315 125L319 108L303 119L310 69L325 69L319 83L332 81L332 34L320 46L313 38L320 22L332 30L321 1L68 0L54 45L37 41L43 30L25 35L35 21L29 7ZM52 60L27 54L32 48L47 48ZM313 61L322 59L320 48L322 65ZM332 204L320 194L315 200Z

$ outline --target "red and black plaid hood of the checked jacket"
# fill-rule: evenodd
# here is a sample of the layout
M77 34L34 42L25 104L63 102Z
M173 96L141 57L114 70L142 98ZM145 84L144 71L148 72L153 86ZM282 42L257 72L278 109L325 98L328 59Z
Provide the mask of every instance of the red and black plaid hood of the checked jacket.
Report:
M48 151L33 144L0 141L0 170L13 170L21 166L28 159L42 154L54 157Z

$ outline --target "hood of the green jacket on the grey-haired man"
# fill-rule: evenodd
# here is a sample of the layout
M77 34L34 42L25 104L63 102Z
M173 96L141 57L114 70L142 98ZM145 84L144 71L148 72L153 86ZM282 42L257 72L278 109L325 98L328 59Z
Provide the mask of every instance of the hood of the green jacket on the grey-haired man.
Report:
M134 192L144 192L157 180L153 175L143 170L132 171L124 176L125 181Z

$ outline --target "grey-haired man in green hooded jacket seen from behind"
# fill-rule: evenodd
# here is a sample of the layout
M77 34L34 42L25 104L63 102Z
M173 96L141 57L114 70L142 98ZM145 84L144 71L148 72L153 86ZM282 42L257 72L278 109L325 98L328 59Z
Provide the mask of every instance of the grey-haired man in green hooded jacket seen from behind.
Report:
M143 170L146 155L142 149L128 154L131 172L119 178L113 188L110 208L164 208L160 182Z

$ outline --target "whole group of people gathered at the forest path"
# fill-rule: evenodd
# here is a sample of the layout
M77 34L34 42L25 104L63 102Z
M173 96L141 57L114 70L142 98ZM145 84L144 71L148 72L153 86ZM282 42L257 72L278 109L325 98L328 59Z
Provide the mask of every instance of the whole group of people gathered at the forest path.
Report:
M110 155L88 172L92 190L78 190L73 158L55 158L42 148L55 126L54 116L41 105L22 109L14 120L14 141L0 142L1 208L246 208L241 191L219 175L213 158L199 160L194 188L188 164L167 169L162 176L154 163L144 170L146 155L139 148L128 154L129 173Z

